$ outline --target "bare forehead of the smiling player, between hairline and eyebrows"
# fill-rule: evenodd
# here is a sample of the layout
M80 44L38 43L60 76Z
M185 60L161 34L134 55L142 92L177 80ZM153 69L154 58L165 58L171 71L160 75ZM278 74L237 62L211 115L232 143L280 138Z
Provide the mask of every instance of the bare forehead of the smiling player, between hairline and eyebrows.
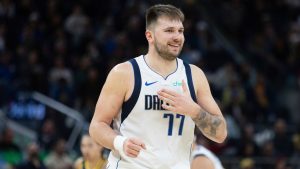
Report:
M162 16L157 19L156 27L164 29L164 28L183 28L183 24L180 19L174 19L167 16Z

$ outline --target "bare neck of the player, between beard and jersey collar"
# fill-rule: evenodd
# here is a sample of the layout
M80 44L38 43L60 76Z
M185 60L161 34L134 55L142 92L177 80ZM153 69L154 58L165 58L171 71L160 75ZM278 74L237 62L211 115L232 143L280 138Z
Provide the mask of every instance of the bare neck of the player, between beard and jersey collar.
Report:
M157 54L148 53L145 55L145 61L152 70L159 73L163 77L167 77L177 69L176 59L166 60Z

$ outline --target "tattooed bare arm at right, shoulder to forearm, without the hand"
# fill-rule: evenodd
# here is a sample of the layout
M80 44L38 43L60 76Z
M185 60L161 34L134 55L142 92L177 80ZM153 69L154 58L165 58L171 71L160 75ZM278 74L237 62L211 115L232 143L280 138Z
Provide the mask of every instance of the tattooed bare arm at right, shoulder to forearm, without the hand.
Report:
M198 113L192 115L192 119L206 137L221 143L227 136L226 121L211 94L204 72L194 65L191 65L191 70L199 105Z

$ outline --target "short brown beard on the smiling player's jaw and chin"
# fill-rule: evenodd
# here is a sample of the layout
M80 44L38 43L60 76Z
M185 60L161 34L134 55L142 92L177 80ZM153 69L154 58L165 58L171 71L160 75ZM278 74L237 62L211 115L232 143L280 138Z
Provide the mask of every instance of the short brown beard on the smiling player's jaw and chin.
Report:
M171 52L170 49L168 48L168 45L163 45L157 41L155 41L154 43L154 47L156 52L163 58L166 60L174 60L178 57L178 55L180 54L181 50L182 50L182 46L180 46L180 49L178 50L177 53L175 52Z

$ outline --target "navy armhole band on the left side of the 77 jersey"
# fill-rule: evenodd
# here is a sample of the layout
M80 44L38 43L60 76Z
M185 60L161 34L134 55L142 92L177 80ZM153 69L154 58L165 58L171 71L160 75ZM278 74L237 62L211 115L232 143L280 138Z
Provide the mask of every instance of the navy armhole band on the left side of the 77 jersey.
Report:
M142 86L142 78L139 65L137 64L135 59L131 59L129 60L129 62L131 63L134 72L134 86L130 98L126 102L124 102L122 106L121 123L127 118L129 113L135 106L139 98Z

